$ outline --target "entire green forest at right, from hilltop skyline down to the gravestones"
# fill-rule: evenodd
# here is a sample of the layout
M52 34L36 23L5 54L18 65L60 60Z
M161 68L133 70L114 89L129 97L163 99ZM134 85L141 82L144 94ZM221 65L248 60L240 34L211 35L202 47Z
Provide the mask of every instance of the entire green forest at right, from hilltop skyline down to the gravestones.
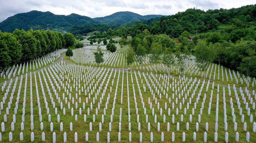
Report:
M131 35L133 51L138 57L141 51L150 53L152 63L166 51L196 57L205 53L211 55L207 60L256 76L256 5L206 12L193 8L160 19L149 25L138 22L114 32ZM189 36L194 36L193 41L188 41ZM174 38L179 42L175 43Z

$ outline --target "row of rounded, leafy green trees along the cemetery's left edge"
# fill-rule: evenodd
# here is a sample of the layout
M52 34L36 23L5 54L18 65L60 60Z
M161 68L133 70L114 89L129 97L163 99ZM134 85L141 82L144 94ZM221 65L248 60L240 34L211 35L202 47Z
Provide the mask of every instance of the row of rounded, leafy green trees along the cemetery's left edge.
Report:
M74 43L75 39L71 33L32 29L16 29L13 33L0 31L0 67L5 68L22 61L33 60Z

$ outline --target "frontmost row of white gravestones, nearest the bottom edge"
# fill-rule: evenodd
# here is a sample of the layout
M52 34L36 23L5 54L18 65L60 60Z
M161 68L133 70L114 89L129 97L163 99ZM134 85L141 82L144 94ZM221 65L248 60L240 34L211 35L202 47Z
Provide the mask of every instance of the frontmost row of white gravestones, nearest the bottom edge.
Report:
M35 140L35 136L34 136L34 132L31 132L30 134L30 141L33 142ZM52 134L52 141L53 143L56 143L56 133L53 132ZM153 136L153 132L150 133L150 142L153 142L154 141L154 136ZM169 138L169 137L167 137ZM204 137L203 137L203 141L204 142L207 142L207 132L204 132ZM228 132L225 133L225 142L228 142L228 138L229 138L229 134ZM88 142L89 140L89 134L88 132L85 133L85 142ZM142 142L142 132L140 132L140 142ZM20 141L23 141L24 140L24 135L23 135L23 132L20 132ZM112 139L113 140L113 139ZM171 140L172 142L175 142L175 133L172 132L172 135L171 135ZM193 133L193 140L196 141L196 132ZM236 135L235 135L235 140L238 142L239 141L239 133L236 132ZM2 134L0 132L0 142L2 141ZM13 141L13 134L12 132L9 132L9 142ZM45 133L42 132L42 141L45 141ZM67 142L67 133L64 132L63 134L63 141L64 142ZM99 132L96 133L96 142L99 142L100 141L100 134ZM164 142L165 139L164 139L164 132L161 133L161 142ZM214 142L217 142L218 141L218 133L215 132L214 133ZM249 142L250 141L250 133L247 132L246 133L246 141ZM78 142L78 134L77 132L74 133L74 142ZM110 132L107 133L107 142L110 142ZM118 142L121 142L121 132L118 133ZM132 134L131 132L129 132L129 142L132 142ZM183 132L182 133L182 142L186 142L186 133Z

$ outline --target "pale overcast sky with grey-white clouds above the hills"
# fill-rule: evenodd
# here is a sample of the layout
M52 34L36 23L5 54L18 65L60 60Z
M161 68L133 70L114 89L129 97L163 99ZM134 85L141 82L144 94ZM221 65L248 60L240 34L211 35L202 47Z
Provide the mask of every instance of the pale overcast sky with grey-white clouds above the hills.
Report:
M255 0L0 0L0 22L14 14L31 10L50 11L58 15L77 13L94 18L118 11L172 15L193 7L206 11L255 3Z

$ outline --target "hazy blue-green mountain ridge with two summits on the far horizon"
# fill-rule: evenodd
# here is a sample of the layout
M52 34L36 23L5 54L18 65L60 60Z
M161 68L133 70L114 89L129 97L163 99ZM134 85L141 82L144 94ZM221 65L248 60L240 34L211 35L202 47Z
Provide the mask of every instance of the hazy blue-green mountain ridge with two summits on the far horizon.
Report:
M15 29L49 29L54 31L66 32L72 26L87 24L124 24L128 22L142 21L162 15L139 15L129 11L121 11L105 17L90 18L87 16L72 13L70 15L55 15L49 11L30 11L18 13L8 17L0 23L2 32L13 32Z

